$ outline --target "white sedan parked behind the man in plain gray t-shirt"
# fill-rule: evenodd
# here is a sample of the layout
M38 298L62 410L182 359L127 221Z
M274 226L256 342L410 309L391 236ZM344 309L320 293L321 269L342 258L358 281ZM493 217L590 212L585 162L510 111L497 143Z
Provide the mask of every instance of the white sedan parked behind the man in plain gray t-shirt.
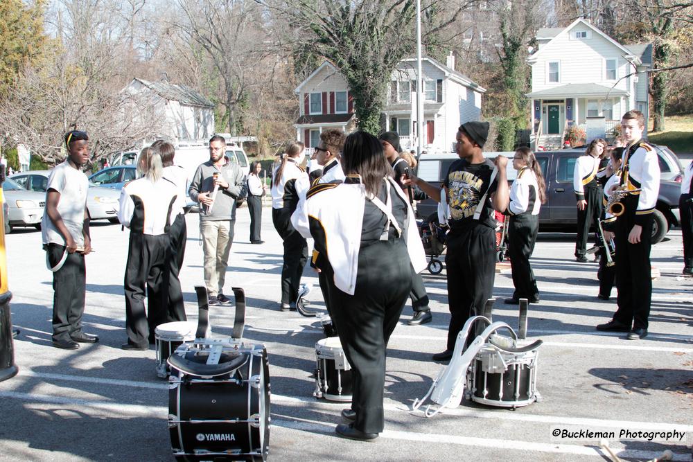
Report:
M27 190L37 193L46 193L50 170L30 170L28 172L15 173L10 178ZM94 183L89 183L87 190L87 212L90 220L108 220L118 222L118 199L120 192L112 188L102 188Z

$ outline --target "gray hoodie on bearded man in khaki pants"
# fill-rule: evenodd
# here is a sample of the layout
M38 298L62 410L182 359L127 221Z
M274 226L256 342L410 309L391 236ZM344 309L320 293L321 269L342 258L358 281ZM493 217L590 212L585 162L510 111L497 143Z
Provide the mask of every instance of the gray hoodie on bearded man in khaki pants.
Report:
M190 182L190 198L200 202L198 194L213 191L215 172L223 176L229 187L219 188L211 213L207 211L207 206L200 204L200 221L236 220L236 199L246 197L247 188L240 167L237 163L229 162L228 158L221 168L216 168L211 160L200 164L198 170L195 170L193 181Z

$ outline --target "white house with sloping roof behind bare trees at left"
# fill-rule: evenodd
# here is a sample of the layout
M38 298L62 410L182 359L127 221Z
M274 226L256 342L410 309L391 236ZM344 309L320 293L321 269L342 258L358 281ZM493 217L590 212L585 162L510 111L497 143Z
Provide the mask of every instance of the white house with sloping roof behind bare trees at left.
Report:
M155 114L163 114L164 133L159 136L177 142L208 139L214 134L213 103L190 87L134 78L123 93L141 98L152 105Z

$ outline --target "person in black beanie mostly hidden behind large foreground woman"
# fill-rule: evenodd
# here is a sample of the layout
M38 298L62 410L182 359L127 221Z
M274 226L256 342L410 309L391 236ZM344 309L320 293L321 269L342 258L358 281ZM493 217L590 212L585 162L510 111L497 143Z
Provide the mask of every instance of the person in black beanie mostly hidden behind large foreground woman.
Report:
M399 134L397 132L385 132L378 136L380 143L383 144L383 152L385 157L389 162L390 166L394 170L394 181L401 188L405 189L402 184L402 177L406 177L409 172L409 163L400 157L399 152L402 150L399 145ZM426 199L426 194L424 194L419 188L414 188L416 194L412 191L405 190L405 193L410 194L409 200L423 200ZM423 277L412 270L412 293L410 294L410 299L412 300L412 310L414 310L414 316L412 319L407 321L410 326L418 326L420 324L430 323L433 319L431 315L431 310L428 308L428 292L426 292L426 286L423 285Z

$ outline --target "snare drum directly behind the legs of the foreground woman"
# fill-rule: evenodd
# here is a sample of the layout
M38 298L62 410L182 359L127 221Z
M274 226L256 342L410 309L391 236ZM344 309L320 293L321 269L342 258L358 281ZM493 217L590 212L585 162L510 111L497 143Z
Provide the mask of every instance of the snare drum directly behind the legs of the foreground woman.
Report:
M351 365L344 356L339 337L327 337L315 344L315 398L351 401Z

